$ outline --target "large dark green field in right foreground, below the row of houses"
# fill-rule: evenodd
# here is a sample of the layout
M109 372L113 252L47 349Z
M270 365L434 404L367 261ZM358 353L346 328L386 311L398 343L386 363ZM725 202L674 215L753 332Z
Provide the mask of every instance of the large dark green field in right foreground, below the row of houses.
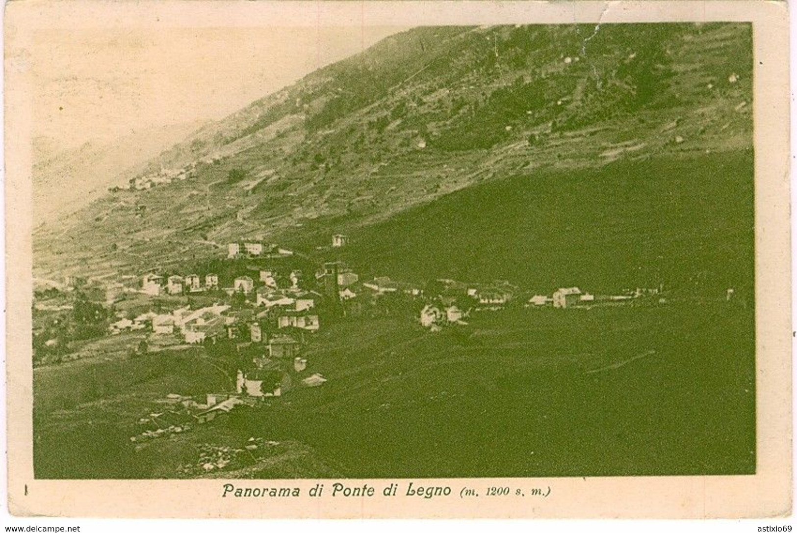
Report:
M429 334L328 330L329 382L250 427L351 477L611 476L755 469L752 311L517 310Z

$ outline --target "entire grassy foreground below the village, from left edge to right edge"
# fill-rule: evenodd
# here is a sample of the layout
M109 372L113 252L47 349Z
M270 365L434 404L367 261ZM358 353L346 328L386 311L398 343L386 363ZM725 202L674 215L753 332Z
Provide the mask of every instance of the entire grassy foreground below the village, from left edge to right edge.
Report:
M147 398L226 386L200 353L37 369L37 476L173 477L198 443L250 436L286 448L248 477L750 473L752 320L715 302L485 312L439 334L340 322L307 352L322 387L138 453L125 426ZM65 383L92 392L64 403Z

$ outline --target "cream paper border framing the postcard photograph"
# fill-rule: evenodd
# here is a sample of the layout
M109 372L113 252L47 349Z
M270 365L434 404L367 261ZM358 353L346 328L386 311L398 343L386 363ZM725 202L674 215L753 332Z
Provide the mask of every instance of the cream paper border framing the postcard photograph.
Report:
M129 26L433 26L611 22L752 22L756 203L754 476L423 480L551 487L546 499L306 495L318 480L238 480L300 487L296 498L222 498L222 480L34 480L29 57L33 31ZM791 294L788 14L785 2L57 2L6 4L6 384L9 507L14 515L183 518L742 518L791 513ZM326 481L325 484L332 484ZM457 492L455 491L455 492Z

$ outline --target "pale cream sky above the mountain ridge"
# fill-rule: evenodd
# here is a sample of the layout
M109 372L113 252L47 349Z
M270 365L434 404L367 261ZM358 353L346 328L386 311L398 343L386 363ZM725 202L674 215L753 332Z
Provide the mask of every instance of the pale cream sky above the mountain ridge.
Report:
M29 49L34 135L74 148L219 119L405 29L42 30Z

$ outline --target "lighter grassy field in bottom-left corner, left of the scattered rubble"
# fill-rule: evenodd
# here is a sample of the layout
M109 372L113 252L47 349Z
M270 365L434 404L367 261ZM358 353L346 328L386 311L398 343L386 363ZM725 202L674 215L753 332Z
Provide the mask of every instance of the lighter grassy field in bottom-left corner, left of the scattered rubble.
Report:
M121 336L120 336L121 337ZM138 466L129 437L135 422L167 393L196 394L227 386L203 364L201 349L130 358L85 357L33 371L33 457L37 477L116 477ZM218 365L218 363L217 363Z

